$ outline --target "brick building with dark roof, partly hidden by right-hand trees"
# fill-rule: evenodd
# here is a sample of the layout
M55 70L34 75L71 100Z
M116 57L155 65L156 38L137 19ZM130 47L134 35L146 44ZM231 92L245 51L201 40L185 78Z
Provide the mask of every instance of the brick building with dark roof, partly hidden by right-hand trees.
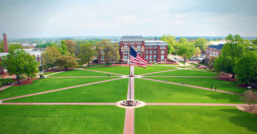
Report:
M223 45L224 44L210 45L206 47L205 58L207 59L208 63L211 57L218 57L219 55L221 55L221 49L223 48Z

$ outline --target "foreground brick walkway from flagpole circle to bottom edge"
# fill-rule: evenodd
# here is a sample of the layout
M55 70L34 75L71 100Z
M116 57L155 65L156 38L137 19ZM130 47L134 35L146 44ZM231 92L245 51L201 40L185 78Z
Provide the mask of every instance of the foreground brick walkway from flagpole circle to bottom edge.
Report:
M134 134L134 109L126 108L123 134Z

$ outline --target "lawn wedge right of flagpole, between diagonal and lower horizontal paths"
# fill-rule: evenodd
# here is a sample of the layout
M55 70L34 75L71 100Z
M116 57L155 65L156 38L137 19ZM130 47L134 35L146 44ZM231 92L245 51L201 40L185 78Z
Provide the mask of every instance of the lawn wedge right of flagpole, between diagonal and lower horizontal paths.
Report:
M181 81L182 82L182 81ZM243 103L240 96L135 78L135 99L152 103Z

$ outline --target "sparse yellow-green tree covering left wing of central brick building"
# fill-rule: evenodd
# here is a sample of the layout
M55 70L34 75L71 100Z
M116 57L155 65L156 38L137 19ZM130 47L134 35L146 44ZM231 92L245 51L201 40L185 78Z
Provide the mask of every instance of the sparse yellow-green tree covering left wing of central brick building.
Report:
M120 47L118 46L118 43L111 43L111 40L108 39L102 39L101 42L97 42L97 49L98 51L98 57L104 56L105 63L108 63L112 60L119 61L120 60L120 54L119 50Z

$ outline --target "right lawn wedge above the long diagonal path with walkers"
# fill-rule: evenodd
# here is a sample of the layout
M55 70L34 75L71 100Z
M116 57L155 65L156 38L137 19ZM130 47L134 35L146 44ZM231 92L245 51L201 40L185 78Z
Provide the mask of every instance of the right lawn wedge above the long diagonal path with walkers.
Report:
M247 88L241 88L238 87L238 84L241 84L239 82L234 81L223 81L215 78L192 78L192 77L144 77L148 79L155 79L155 80L162 80L166 81L166 79L169 82L173 83L181 83L182 81L186 85L192 85L192 86L198 86L198 87L205 87L210 88L212 86L213 89L217 87L217 90L223 90L228 92L235 92L242 94ZM257 91L256 89L253 89L253 91Z

